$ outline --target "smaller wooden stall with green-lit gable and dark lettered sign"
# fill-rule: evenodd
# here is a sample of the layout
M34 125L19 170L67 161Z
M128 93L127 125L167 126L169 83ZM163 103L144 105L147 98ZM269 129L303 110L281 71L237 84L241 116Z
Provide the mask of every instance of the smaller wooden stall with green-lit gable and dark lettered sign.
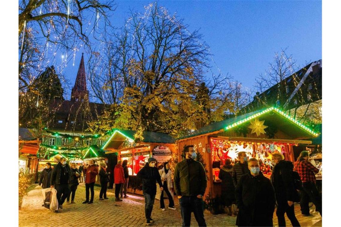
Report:
M118 160L128 160L129 183L128 191L142 194L142 181L136 177L149 157L163 163L177 153L175 139L165 133L143 132L143 140L136 142L136 131L116 129L103 144L105 154L117 153Z

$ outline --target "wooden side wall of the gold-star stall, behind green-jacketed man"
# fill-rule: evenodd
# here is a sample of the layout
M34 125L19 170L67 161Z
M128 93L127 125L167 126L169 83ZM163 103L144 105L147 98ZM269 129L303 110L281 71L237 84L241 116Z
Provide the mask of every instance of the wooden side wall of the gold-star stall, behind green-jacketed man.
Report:
M211 153L207 152L206 144L209 144L207 136L196 137L193 139L188 139L188 140L180 141L177 143L179 162L182 161L181 155L183 153L183 148L188 145L194 145L196 148L196 151L203 156L203 160L206 165L205 168L207 171L206 172L207 173L207 187L206 187L204 198L209 193L212 193L212 190L213 190L212 157L211 157Z

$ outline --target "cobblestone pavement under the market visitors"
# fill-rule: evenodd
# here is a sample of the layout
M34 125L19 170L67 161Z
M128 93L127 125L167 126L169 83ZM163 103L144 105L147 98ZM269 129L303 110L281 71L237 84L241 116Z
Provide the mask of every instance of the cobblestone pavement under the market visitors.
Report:
M93 204L82 204L85 200L85 185L78 185L76 191L76 204L63 204L61 213L54 213L42 207L43 197L41 188L35 187L24 198L19 210L19 226L145 226L144 198L129 194L129 198L122 202L115 202L113 189L109 189L109 199L99 200L100 188L95 187ZM168 201L165 201L167 207ZM152 226L181 226L181 214L179 202L175 199L177 210L160 209L159 200L155 200L152 218ZM317 212L313 216L304 217L300 214L299 205L295 205L296 216L301 226L322 226L322 218ZM236 216L226 214L212 215L205 211L205 220L208 226L235 226ZM291 226L286 219L287 226ZM192 226L197 226L192 214ZM278 226L276 211L273 218L274 226Z

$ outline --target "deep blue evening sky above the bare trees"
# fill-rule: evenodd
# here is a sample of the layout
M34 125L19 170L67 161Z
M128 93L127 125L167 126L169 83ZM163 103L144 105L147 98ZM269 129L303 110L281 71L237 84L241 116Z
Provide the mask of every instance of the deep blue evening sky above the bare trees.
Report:
M152 1L117 1L112 17L122 27L129 9L143 13ZM255 77L265 71L276 51L287 49L300 66L322 59L321 1L159 1L170 14L200 29L213 59L223 74L229 73L243 86L252 87ZM79 51L80 52L80 51ZM74 84L81 53L75 66L63 71ZM87 59L85 59L87 60ZM212 70L218 74L213 64ZM70 98L70 91L67 97Z

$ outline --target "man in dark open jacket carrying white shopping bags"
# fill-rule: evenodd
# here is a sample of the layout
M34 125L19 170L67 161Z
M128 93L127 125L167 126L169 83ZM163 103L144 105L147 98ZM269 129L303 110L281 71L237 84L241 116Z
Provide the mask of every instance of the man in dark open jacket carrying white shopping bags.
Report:
M70 180L72 170L64 157L60 158L58 164L52 171L50 187L57 190L58 210L63 209L63 203L70 194ZM59 210L60 211L60 210Z

